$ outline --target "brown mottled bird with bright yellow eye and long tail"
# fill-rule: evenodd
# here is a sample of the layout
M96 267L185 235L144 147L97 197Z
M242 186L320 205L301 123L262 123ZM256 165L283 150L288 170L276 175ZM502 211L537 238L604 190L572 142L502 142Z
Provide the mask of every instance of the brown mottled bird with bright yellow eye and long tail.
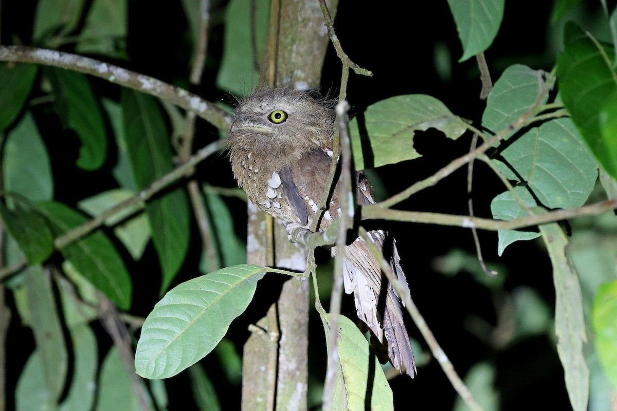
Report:
M332 102L310 92L282 87L257 91L239 102L229 134L231 168L249 199L262 211L288 223L310 227L317 215L333 160ZM363 174L356 179L360 204L373 203ZM319 230L341 214L339 184L323 211ZM369 232L386 250L392 269L408 293L394 238ZM415 375L415 361L400 310L400 297L381 274L362 238L345 247L344 285L354 293L358 317L387 349L397 370ZM385 351L385 350L384 350Z

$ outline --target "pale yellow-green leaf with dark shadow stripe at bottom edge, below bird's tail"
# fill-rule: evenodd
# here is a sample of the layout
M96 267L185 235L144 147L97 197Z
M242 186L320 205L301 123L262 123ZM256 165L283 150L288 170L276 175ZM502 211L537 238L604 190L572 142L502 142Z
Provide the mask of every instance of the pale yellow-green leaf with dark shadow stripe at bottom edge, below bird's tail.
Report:
M329 347L331 317L321 315ZM394 410L392 389L386 380L383 369L370 349L368 341L358 327L344 315L339 315L338 337L339 364L334 386L333 409L336 411L364 410L370 405L373 411ZM368 379L371 378L371 381ZM370 404L366 393L370 386Z

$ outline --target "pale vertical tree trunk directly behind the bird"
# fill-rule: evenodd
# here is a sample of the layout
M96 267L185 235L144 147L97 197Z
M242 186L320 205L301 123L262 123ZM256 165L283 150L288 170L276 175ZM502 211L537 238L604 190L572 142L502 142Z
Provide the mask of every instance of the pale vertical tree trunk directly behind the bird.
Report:
M331 14L336 3L328 4ZM328 33L317 0L272 0L270 28L260 87L318 86ZM306 248L289 243L283 225L254 206L248 248L251 264L305 269ZM258 327L244 346L242 410L307 410L309 282L289 279Z

